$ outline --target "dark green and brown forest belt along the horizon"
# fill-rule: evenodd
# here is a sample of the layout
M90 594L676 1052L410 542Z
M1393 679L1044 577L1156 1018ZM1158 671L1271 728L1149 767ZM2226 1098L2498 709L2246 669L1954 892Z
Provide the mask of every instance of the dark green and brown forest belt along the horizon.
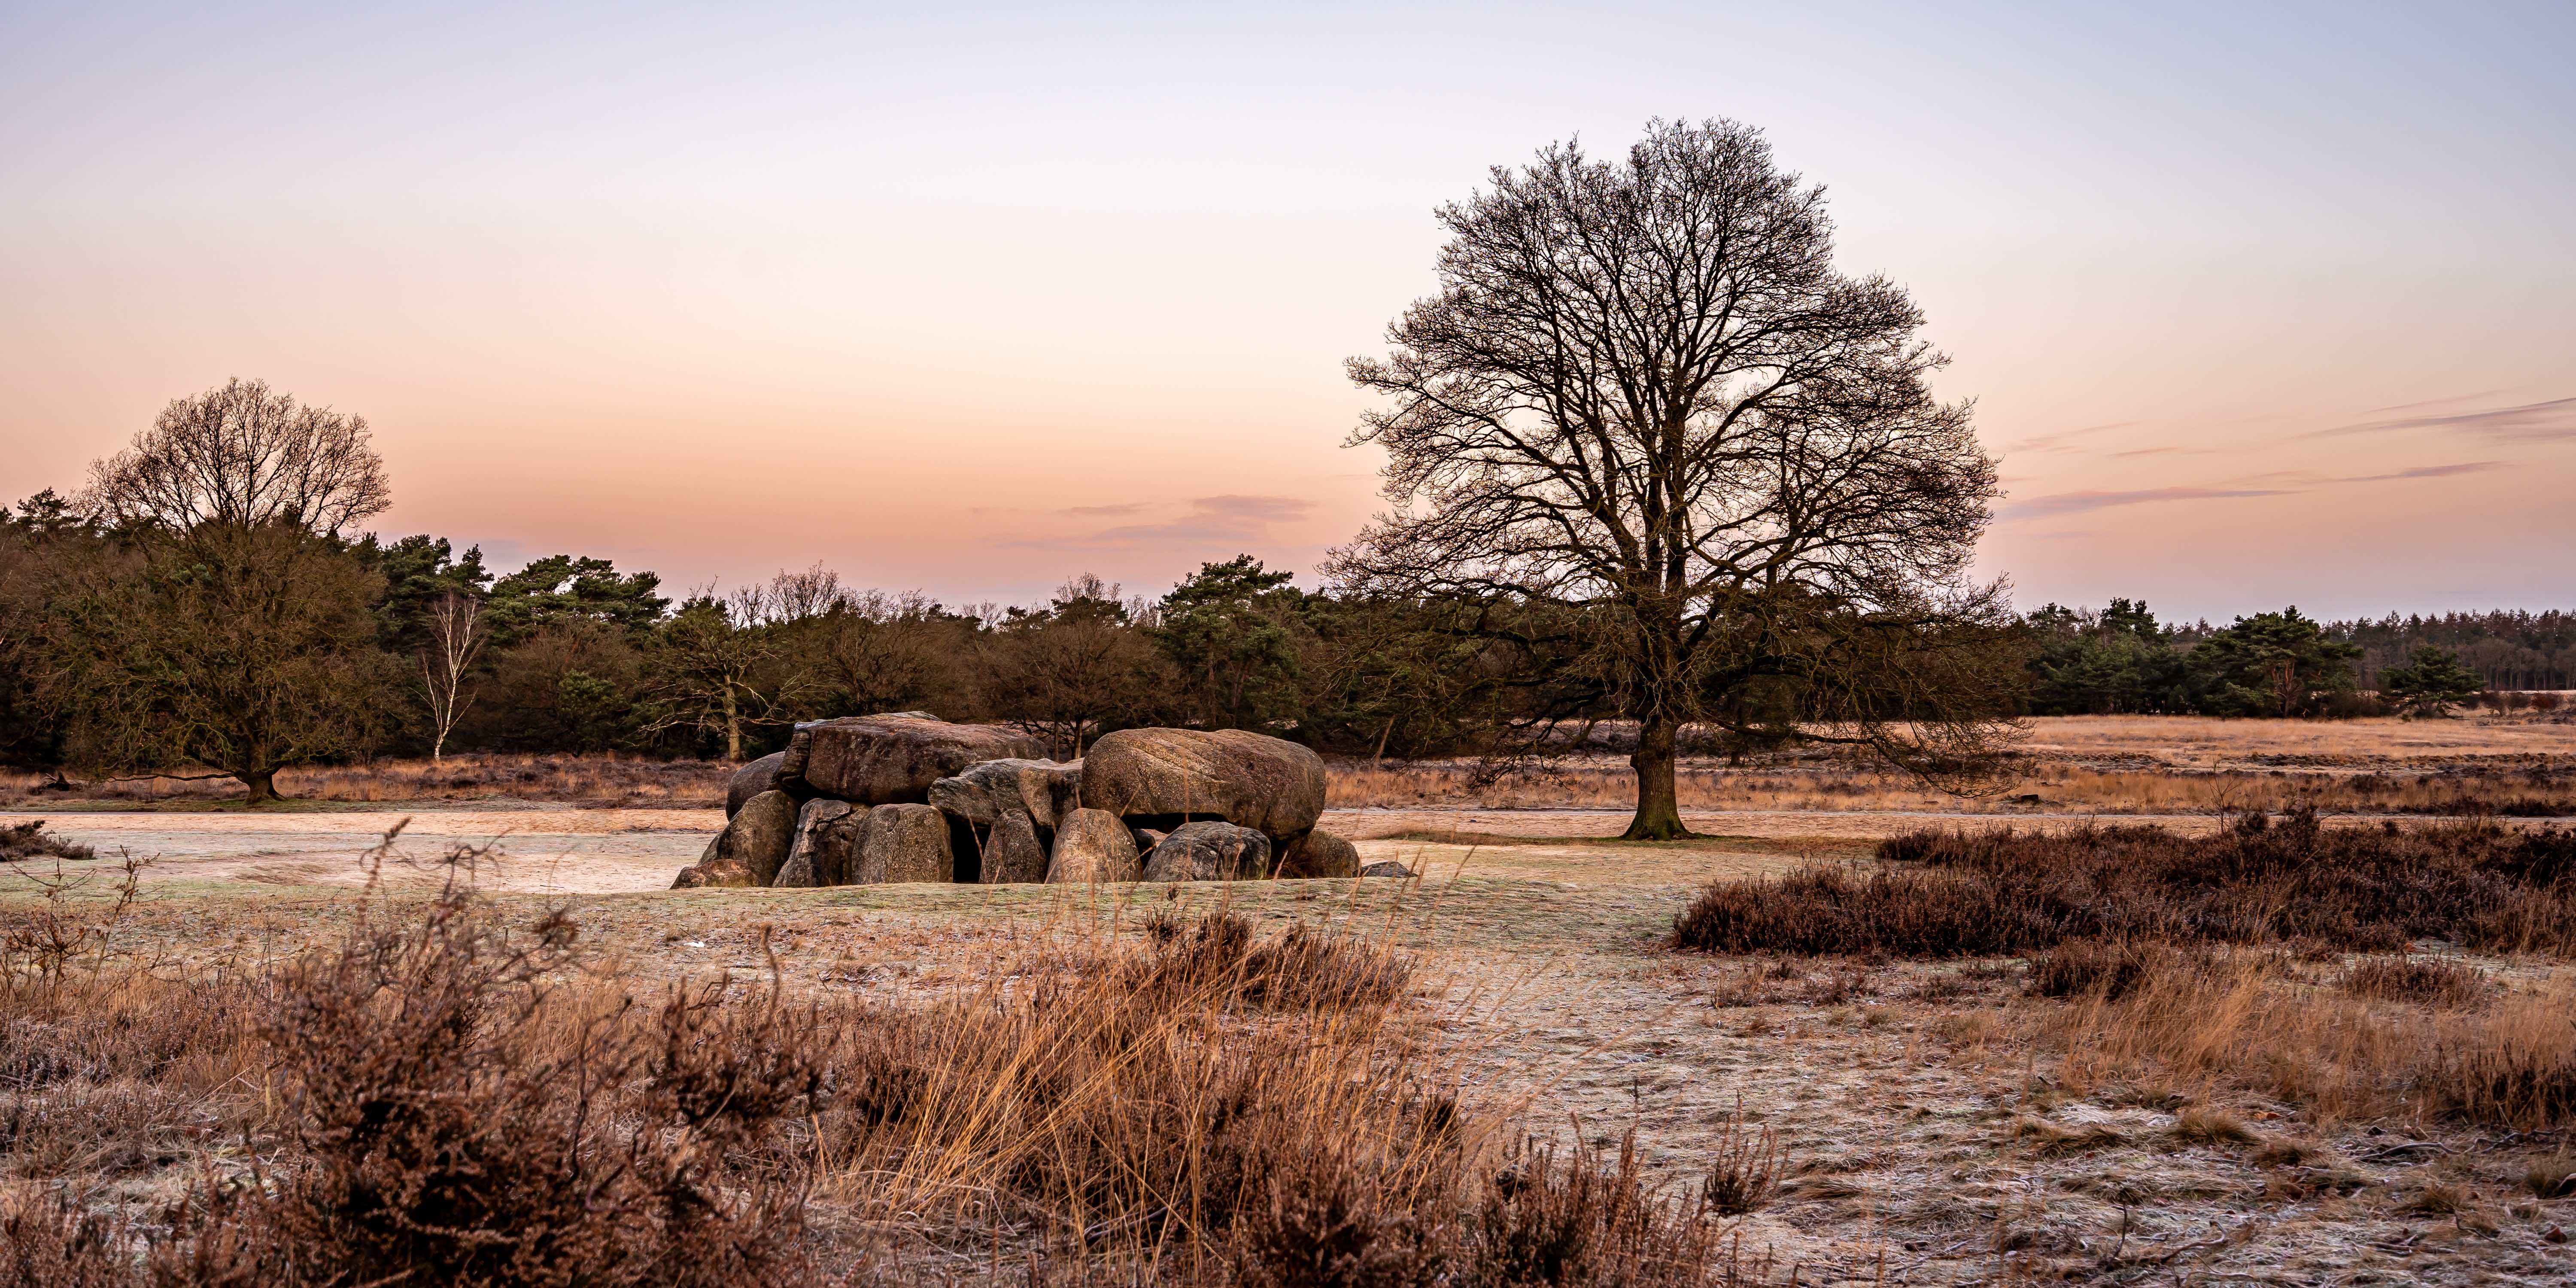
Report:
M1012 721L1059 755L1108 729L1190 724L1422 757L1610 716L1551 693L1564 657L1548 639L1579 636L1579 623L1512 603L1309 592L1252 556L1206 564L1162 595L1074 577L1046 603L956 608L845 587L822 567L670 595L652 572L569 554L492 572L482 551L438 536L263 541L152 564L131 533L62 497L0 513L0 755L98 775L240 760L240 747L185 742L237 716L170 698L234 688L240 698L222 701L268 701L250 737L268 739L258 757L276 762L477 750L750 757L796 721L902 708ZM204 567L227 559L276 567L270 598L211 613L191 603ZM1525 629L1494 629L1515 613ZM242 634L209 634L206 621ZM2166 626L2143 603L2112 600L2030 611L2017 639L2020 654L1996 665L2020 680L1999 693L2017 690L2025 714L2388 714L2401 706L2383 690L2429 657L2458 675L2445 685L2424 672L2437 693L2416 708L2576 688L2576 616L2561 611L2321 623L2287 608ZM294 670L263 672L263 652L291 654ZM137 680L155 675L198 680ZM294 698L273 701L281 690ZM1767 701L1798 716L1793 688Z

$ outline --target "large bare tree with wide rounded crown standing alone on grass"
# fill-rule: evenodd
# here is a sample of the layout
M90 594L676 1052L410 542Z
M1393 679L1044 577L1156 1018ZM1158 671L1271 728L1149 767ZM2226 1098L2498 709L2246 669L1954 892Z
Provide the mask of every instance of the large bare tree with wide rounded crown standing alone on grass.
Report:
M1396 513L1334 551L1345 590L1571 608L1535 618L1577 623L1543 641L1569 701L1638 724L1633 840L1687 835L1690 724L1924 773L1991 747L2004 603L1965 569L1994 461L1927 389L1914 301L1832 268L1821 188L1749 126L1654 121L1440 222L1440 294L1350 361L1391 399L1352 443L1386 448Z

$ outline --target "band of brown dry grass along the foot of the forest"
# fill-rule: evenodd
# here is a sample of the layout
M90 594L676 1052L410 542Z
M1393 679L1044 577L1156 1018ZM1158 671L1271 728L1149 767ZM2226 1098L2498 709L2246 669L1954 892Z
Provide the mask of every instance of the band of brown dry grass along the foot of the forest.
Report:
M2576 726L2532 716L2452 721L2221 721L2195 716L2053 716L2027 721L2012 781L1960 799L1865 757L1801 750L1744 762L1687 757L1682 809L1801 811L2079 811L2215 814L2313 806L2339 814L2576 817ZM206 770L188 770L204 775ZM577 801L711 806L732 765L623 755L451 755L294 768L296 801ZM0 806L46 801L237 801L229 778L139 778L62 786L0 773ZM1636 783L1618 755L1574 755L1512 773L1473 760L1332 762L1334 809L1628 809Z

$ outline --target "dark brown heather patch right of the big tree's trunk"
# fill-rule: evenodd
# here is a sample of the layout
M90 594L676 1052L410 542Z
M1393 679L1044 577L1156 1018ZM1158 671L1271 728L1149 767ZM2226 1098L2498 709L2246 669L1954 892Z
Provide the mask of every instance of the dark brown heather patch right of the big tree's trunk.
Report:
M2249 814L2184 837L2164 827L1911 832L1893 868L1806 868L1713 881L1672 943L1710 953L2014 956L2071 938L2393 951L2442 938L2576 951L2576 832L2486 822L2321 827Z

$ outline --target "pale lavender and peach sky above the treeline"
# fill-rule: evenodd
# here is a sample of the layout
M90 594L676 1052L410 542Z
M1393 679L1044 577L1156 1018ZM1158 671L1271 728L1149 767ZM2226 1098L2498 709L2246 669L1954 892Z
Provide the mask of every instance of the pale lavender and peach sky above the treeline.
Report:
M2566 3L0 0L0 500L245 376L495 567L1314 585L1435 206L1728 116L1953 355L2022 605L2576 608L2571 64Z

